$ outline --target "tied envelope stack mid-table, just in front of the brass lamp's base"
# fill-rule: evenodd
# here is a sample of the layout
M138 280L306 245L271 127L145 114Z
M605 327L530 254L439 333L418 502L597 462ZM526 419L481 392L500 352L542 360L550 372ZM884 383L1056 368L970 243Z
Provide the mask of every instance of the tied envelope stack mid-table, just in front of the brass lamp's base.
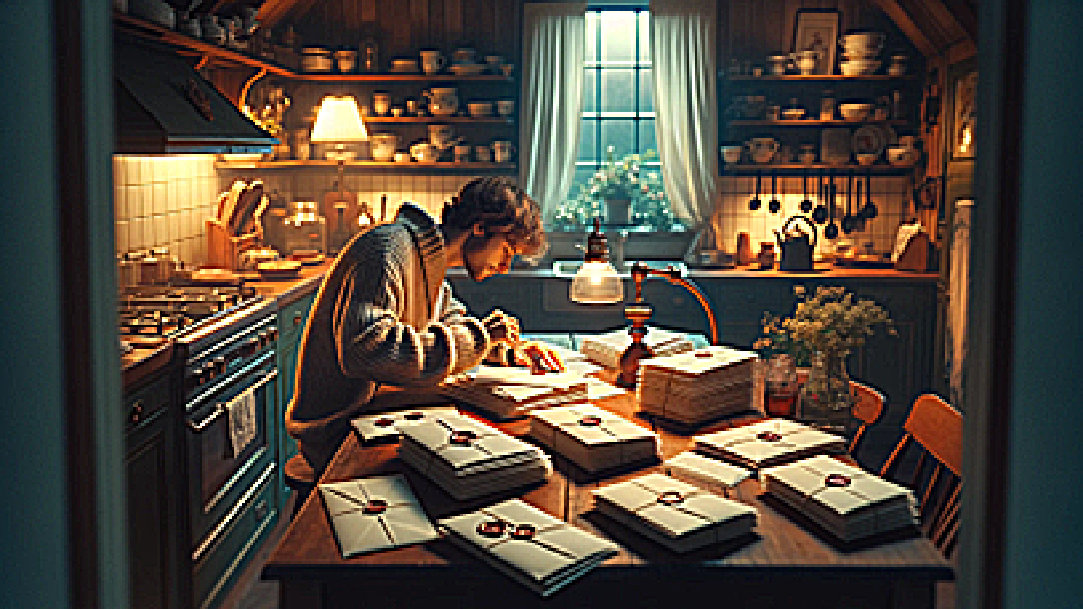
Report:
M656 458L658 435L593 404L531 412L531 436L593 472Z

